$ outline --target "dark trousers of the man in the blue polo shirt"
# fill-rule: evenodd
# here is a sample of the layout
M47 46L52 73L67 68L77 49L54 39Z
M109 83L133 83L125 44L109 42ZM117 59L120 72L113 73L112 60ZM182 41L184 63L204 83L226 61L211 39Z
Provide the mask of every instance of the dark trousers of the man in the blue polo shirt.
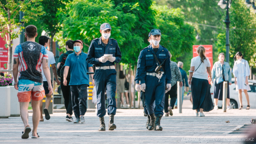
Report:
M81 115L84 116L87 110L87 87L88 84L70 85L72 107L76 118L80 118Z

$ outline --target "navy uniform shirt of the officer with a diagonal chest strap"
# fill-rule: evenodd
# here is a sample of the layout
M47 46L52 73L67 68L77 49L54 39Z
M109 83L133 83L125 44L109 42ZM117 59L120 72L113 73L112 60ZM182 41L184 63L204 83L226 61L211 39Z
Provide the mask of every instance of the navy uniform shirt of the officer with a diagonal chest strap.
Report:
M141 84L145 83L145 78L146 78L146 73L155 73L155 69L157 67L157 60L155 60L154 55L156 54L157 59L162 63L164 59L164 63L162 64L162 67L164 70L161 68L160 71L164 71L164 74L166 75L166 83L171 84L171 79L172 79L172 73L171 73L171 67L170 67L170 55L169 51L161 46L159 44L159 49L155 53L152 46L149 45L147 48L143 49L141 54L140 54L140 71L139 71L139 77L140 77L140 82ZM160 64L161 64L160 63ZM158 64L158 65L160 65Z

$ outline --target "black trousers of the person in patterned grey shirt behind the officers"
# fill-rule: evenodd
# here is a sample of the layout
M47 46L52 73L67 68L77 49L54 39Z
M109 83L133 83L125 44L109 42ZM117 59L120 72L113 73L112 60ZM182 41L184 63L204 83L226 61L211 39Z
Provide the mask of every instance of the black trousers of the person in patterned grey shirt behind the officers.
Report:
M178 87L177 87L177 82L176 82L176 84L172 85L171 90L165 93L165 99L164 99L164 112L165 113L168 113L168 107L169 106L172 107L172 109L174 107L174 104L177 100L177 95L178 95L177 94L177 88ZM171 98L170 105L169 105L169 102L168 102L169 95L170 95L170 98Z

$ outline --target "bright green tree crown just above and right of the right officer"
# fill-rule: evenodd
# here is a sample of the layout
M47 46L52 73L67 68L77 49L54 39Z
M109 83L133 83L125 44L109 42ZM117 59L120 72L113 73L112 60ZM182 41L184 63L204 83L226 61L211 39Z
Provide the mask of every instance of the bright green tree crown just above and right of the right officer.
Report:
M195 41L194 27L184 23L181 9L154 5L153 10L156 11L156 26L162 30L160 43L171 52L172 60L191 51Z

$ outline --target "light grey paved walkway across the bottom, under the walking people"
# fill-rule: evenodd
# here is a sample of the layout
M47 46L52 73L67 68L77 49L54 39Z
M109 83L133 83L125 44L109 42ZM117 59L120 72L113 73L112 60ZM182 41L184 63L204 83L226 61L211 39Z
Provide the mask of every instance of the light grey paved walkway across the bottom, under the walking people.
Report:
M92 110L91 110L92 111ZM205 112L205 117L194 116L194 110L185 108L182 114L173 110L173 116L163 116L163 131L148 131L147 117L142 109L118 109L115 116L117 129L99 132L99 118L95 112L85 114L84 124L65 120L65 113L54 113L50 120L40 122L39 139L21 139L23 123L20 117L0 119L0 143L242 143L244 133L234 133L256 118L256 109L222 109ZM74 116L73 116L74 117ZM225 121L230 121L226 123ZM108 116L105 116L108 127ZM29 113L32 125L32 113ZM233 133L231 133L233 132ZM231 133L231 134L230 134ZM256 140L254 140L256 142Z

